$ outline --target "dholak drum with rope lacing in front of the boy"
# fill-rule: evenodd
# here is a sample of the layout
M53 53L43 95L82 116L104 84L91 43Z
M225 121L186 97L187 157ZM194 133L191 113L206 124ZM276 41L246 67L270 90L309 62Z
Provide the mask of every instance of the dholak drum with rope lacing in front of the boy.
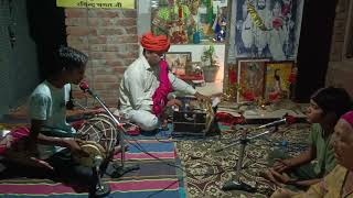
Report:
M89 154L87 157L74 156L74 160L88 167L97 164L96 160L109 160L117 143L118 129L114 120L107 114L99 113L88 119L77 131L77 139L82 140L81 147ZM100 162L101 163L101 162Z

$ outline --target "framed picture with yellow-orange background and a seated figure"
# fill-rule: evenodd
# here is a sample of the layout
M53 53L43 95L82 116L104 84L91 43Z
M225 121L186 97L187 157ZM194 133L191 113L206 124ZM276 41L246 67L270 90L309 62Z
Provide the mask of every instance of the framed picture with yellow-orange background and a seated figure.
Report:
M265 100L276 101L289 98L290 76L295 68L295 62L266 63Z

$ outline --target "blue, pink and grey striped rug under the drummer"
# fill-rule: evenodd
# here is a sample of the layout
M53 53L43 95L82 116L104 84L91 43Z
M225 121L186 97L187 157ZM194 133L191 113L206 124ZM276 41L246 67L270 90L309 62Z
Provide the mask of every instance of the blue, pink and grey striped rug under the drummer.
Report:
M0 127L9 130L21 125L28 125L28 123L0 123ZM159 134L162 134L159 139L164 139L163 141L154 140L152 135L127 136L129 148L125 155L125 165L139 165L140 169L118 178L110 178L114 169L107 173L103 180L111 188L108 197L185 197L183 178L178 170L180 160L176 158L174 142L167 139L168 132L159 132ZM120 155L116 155L114 158L115 163L119 165ZM7 175L6 172L4 168L0 174ZM23 176L2 177L0 194L7 195L7 197L87 197L85 189L50 179L25 178Z

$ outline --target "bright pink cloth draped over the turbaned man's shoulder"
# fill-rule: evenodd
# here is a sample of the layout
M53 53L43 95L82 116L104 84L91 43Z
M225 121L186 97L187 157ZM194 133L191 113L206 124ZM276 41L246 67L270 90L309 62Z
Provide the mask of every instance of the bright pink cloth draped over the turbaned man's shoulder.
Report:
M160 116L162 113L163 108L165 107L168 99L167 96L172 91L172 86L169 81L168 77L168 64L165 61L160 62L160 72L159 72L159 87L156 89L152 100L152 112L156 116Z

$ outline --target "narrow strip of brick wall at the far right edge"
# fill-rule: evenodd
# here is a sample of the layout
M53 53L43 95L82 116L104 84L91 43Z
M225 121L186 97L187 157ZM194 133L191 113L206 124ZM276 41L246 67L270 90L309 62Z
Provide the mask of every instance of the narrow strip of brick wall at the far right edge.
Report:
M350 1L351 0L339 0L335 10L334 31L325 84L327 86L343 87L353 96L353 59L345 59L343 55L344 42L346 42L344 38Z

